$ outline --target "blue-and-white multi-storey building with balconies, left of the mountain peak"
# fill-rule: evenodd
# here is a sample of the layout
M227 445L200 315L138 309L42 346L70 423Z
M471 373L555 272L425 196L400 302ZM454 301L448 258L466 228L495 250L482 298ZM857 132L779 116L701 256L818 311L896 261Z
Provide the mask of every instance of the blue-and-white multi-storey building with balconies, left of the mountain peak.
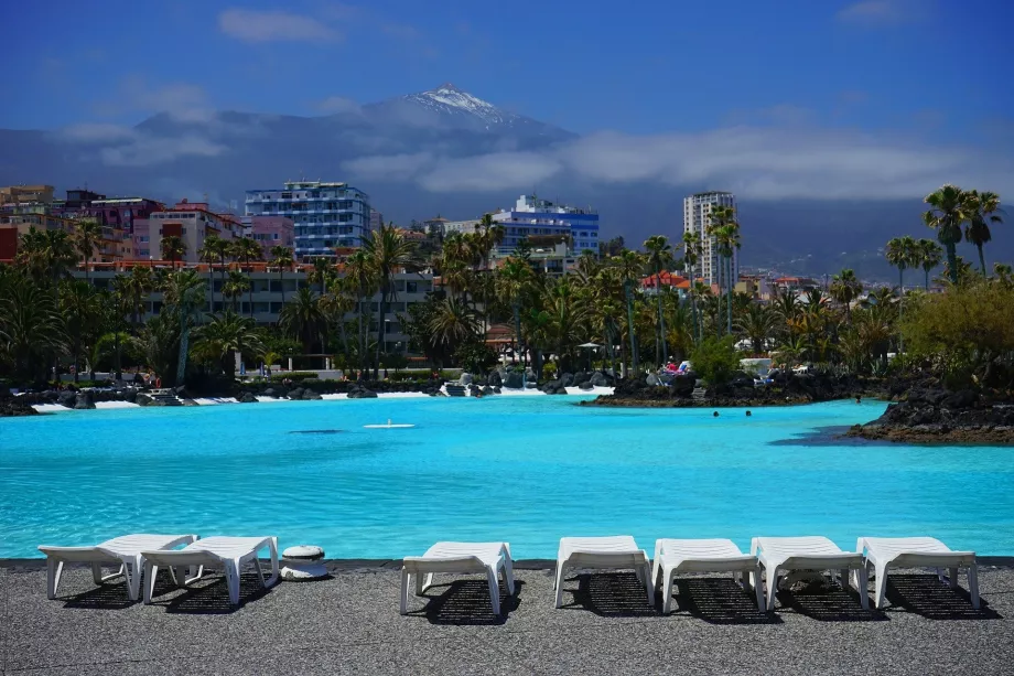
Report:
M335 248L360 246L371 213L369 195L347 183L289 181L281 190L247 191L247 216L292 219L296 260L333 258Z

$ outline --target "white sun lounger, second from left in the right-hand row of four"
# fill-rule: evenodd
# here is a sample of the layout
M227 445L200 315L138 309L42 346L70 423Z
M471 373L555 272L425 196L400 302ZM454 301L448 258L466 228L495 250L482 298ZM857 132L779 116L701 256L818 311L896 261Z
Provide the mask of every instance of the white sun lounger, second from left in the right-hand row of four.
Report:
M737 572L743 575L744 588L752 582L757 595L757 609L764 610L764 588L760 583L760 565L756 556L740 551L729 539L655 540L655 560L651 565L651 583L662 576L662 613L672 608L672 580L678 572Z

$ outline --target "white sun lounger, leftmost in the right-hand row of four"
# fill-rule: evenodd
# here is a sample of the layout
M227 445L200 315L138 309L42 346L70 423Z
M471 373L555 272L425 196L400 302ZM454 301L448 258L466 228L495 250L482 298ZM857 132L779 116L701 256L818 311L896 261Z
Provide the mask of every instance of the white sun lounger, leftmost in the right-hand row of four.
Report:
M645 586L648 603L655 603L655 586L651 583L651 562L644 549L630 535L610 537L562 537L557 554L557 575L553 589L557 590L555 607L563 605L563 578L568 568L595 570L627 570L633 568L637 579Z

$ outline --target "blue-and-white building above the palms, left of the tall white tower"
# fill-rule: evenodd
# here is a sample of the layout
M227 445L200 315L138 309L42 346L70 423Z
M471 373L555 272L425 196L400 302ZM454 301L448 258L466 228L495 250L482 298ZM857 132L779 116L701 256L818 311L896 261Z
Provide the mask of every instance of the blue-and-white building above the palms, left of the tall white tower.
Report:
M500 210L493 221L505 228L500 253L509 254L521 240L536 235L559 236L570 239L570 250L580 255L592 250L598 255L598 213L553 204L535 195L521 195L513 210Z

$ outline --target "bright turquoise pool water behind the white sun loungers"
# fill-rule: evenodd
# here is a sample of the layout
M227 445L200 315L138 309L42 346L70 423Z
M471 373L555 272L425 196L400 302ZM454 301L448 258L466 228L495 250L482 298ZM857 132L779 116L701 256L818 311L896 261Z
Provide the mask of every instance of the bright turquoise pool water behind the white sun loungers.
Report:
M0 557L123 533L278 535L328 557L564 535L932 535L1014 554L1014 449L834 441L883 404L582 408L576 397L67 411L0 421ZM364 425L413 422L409 430ZM341 431L335 431L341 430ZM330 433L320 433L330 431ZM306 433L312 432L312 433Z

